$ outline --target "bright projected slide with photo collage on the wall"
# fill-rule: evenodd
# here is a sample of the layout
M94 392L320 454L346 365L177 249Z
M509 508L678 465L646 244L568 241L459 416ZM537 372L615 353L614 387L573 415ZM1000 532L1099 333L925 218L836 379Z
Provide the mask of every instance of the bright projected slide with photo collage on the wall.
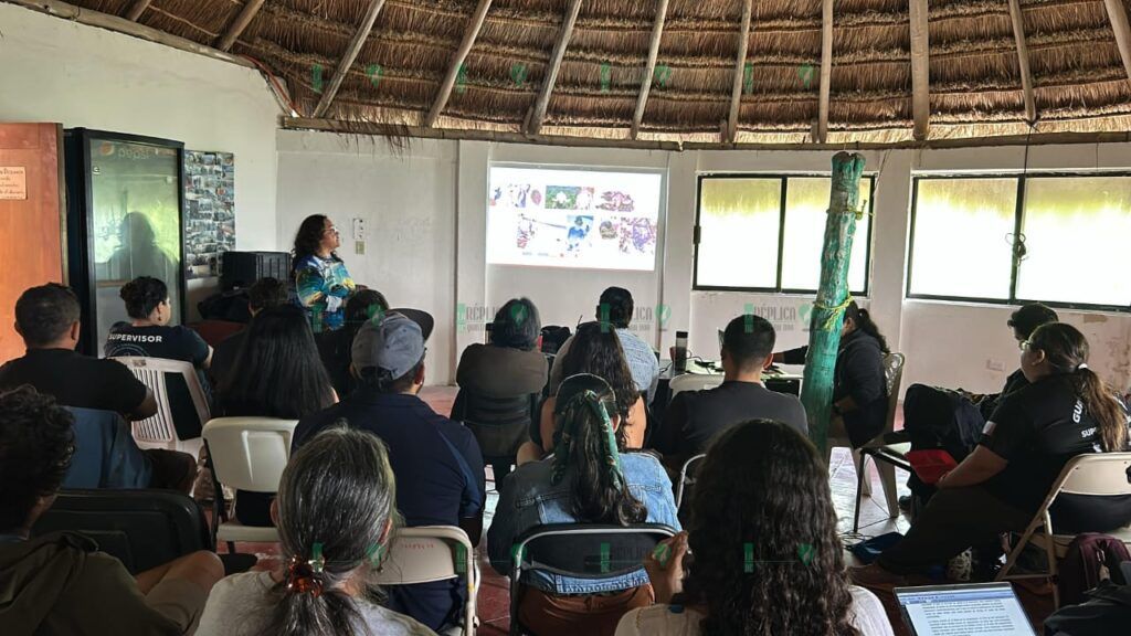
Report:
M651 270L658 173L492 167L487 260Z

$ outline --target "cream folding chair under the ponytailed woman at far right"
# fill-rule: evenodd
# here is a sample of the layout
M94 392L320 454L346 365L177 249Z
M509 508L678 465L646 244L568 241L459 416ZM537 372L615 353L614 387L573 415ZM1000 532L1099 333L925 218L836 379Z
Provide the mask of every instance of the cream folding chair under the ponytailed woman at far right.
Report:
M1005 567L998 573L996 581L1017 578L1047 578L1053 588L1053 607L1060 608L1060 591L1056 581L1056 559L1067 553L1074 534L1056 534L1048 509L1062 492L1070 495L1117 496L1131 495L1131 453L1089 453L1073 457L1061 471L1045 497L1037 514L1033 516L1021 540L1009 552ZM1038 532L1039 531L1039 532ZM1104 534L1131 544L1131 525ZM1010 575L1017 558L1029 543L1043 548L1048 561L1048 571Z

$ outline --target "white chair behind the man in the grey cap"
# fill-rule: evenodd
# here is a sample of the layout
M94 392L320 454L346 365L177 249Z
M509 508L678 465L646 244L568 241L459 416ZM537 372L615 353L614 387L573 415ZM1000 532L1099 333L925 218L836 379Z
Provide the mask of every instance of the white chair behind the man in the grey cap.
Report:
M463 528L454 525L397 528L371 581L378 585L412 585L457 577L467 583L464 625L458 633L474 636L480 573L475 569L475 547Z

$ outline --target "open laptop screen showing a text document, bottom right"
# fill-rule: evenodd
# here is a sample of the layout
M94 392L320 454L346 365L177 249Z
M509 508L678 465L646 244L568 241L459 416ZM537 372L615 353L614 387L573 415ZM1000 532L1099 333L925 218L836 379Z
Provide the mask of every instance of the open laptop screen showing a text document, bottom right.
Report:
M1036 636L1009 583L896 587L914 636Z

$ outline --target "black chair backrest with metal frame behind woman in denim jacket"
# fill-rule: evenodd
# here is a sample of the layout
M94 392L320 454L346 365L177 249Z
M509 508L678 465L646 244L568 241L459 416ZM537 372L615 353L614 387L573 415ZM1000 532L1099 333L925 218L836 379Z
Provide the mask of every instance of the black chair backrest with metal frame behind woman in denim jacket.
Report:
M523 571L537 569L573 578L611 578L640 569L656 544L675 535L658 523L632 526L546 524L515 540L510 571L510 634L527 631L518 620Z

